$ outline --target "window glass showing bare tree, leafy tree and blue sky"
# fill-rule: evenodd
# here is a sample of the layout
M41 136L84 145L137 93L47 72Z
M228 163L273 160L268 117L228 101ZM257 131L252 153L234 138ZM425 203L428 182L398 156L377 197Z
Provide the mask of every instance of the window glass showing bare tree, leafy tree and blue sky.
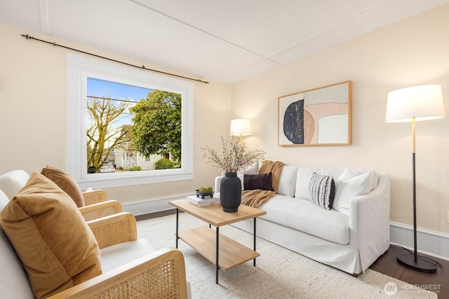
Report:
M180 168L182 95L92 77L87 93L88 173Z

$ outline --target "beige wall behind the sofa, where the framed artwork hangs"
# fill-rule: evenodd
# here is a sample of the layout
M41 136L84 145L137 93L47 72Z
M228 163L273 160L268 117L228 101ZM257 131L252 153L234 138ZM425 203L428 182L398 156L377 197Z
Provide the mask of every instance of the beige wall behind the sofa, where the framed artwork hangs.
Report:
M232 86L232 118L251 118L249 148L293 165L391 174L391 221L413 224L411 124L385 123L387 93L441 84L446 118L417 123L417 223L449 232L449 5ZM353 145L277 145L277 97L353 81Z

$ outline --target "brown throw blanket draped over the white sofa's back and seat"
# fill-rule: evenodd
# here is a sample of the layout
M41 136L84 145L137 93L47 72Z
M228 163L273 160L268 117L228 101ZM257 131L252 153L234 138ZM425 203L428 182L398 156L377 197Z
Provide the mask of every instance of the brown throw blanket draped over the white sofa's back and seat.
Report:
M264 204L264 202L267 202L270 200L274 195L276 195L276 192L279 188L279 179L281 178L281 172L282 172L282 166L283 162L273 162L269 160L265 160L262 162L262 166L259 169L260 174L268 174L269 172L272 173L272 181L273 181L273 189L274 191L269 190L244 190L241 193L241 203L246 204L250 207L259 207L261 204Z

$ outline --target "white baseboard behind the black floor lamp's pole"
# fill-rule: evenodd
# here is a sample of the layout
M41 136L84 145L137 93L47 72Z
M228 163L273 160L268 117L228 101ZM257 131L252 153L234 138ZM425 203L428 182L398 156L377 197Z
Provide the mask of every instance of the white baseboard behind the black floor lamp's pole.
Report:
M420 253L449 260L449 235L417 228L417 251ZM414 249L413 226L390 221L390 244Z

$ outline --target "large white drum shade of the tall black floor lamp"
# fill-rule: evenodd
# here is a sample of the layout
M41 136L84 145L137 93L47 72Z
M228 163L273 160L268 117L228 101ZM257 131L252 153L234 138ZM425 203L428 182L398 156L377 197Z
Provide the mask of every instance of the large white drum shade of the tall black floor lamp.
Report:
M444 117L441 85L418 85L389 92L387 123L432 120Z

